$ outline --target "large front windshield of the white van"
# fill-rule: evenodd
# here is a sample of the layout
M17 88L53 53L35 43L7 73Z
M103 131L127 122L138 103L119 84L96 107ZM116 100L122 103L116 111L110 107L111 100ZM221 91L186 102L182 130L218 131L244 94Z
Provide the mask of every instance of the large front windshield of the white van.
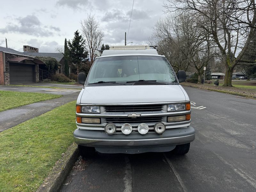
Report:
M177 82L175 72L164 57L116 56L96 59L88 74L87 83L154 81L164 84Z

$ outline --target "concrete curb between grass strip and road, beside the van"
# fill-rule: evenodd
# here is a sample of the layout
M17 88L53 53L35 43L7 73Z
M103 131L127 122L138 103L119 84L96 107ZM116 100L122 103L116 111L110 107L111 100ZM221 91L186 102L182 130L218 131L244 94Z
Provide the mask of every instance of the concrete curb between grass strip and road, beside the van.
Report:
M67 152L53 167L44 182L36 192L57 192L61 189L63 182L70 173L73 164L79 155L77 145L73 143L68 147Z

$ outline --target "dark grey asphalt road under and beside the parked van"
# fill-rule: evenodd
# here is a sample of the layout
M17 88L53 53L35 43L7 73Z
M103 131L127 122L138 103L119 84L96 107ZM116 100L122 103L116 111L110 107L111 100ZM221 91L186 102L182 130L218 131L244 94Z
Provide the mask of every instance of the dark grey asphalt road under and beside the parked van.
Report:
M188 154L98 154L79 158L62 192L255 192L256 100L184 88L196 103L191 116L196 140Z

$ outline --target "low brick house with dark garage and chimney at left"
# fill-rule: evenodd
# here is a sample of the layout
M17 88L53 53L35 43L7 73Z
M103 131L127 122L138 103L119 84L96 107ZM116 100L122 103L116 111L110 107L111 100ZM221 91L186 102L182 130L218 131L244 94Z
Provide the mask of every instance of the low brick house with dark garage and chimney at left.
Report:
M50 78L55 73L65 73L62 53L40 53L38 48L23 46L24 52L0 46L0 84L35 83ZM59 62L59 70L49 71L36 56L53 57ZM70 72L70 66L69 66Z

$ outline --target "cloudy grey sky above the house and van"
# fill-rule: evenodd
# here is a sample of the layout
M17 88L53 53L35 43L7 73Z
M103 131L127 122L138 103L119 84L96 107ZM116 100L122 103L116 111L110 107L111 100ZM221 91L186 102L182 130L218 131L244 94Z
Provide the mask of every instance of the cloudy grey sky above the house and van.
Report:
M39 52L55 52L65 37L72 39L80 31L80 20L88 13L95 15L105 33L104 44L124 45L133 0L9 0L1 4L0 46L22 51L23 45L39 48ZM127 42L145 44L152 27L164 17L164 0L134 0Z

